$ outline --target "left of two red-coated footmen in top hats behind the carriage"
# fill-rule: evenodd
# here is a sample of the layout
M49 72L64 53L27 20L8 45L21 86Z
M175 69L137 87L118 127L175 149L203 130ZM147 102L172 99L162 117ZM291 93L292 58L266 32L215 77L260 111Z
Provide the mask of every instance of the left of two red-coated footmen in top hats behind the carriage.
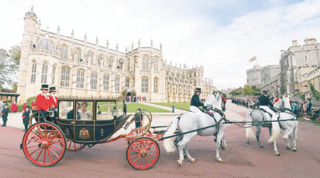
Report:
M49 85L41 85L41 93L36 98L36 110L39 112L41 117L46 118L48 110L50 108L50 99L47 95Z

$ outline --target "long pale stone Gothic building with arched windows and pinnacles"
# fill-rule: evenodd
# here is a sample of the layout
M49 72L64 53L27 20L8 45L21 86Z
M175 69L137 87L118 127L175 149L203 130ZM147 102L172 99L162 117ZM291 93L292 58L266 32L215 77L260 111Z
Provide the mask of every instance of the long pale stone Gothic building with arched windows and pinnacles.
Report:
M203 68L165 65L162 46L154 48L152 40L148 47L140 41L137 47L132 43L122 53L118 46L109 48L108 41L105 46L99 45L98 38L95 43L87 42L86 34L83 40L74 38L74 31L71 36L60 35L59 26L56 33L43 30L33 9L24 21L17 88L20 103L40 93L41 84L56 86L59 97L117 98L123 90L135 90L147 102L188 101L195 87L212 91L212 80L210 84L203 81ZM188 75L195 71L201 76L192 79L200 82L191 85ZM178 80L170 79L168 73ZM175 93L168 93L169 86Z

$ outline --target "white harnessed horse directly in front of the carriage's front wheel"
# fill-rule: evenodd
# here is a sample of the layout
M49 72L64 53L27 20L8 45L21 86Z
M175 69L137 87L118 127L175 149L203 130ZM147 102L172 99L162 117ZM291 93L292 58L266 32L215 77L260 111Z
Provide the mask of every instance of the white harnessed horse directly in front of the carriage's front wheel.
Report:
M212 105L213 108L216 108L218 110L225 109L225 105L222 102L221 95L218 94L216 97L213 94L208 95L208 98L206 99L205 105ZM212 110L210 110L213 112ZM215 120L217 122L220 121L222 116L218 112L213 112L213 115L215 117ZM215 125L216 122L210 115L207 115L205 113L198 113L198 112L186 112L181 117L174 118L171 122L171 126L168 128L166 133L164 134L164 137L169 137L171 135L174 135L174 132L176 132L176 129L178 128L179 132L188 132L191 130L198 130L203 127L208 127L210 125ZM223 135L223 132L225 130L225 125L223 125L221 122L218 125L215 125L213 127L209 127L205 130L198 130L197 132L190 132L183 135L183 139L178 142L178 150L179 150L179 159L177 161L178 166L182 165L183 162L183 151L186 153L186 156L191 162L196 162L196 159L193 159L191 155L188 152L187 144L190 142L193 137L196 135L201 136L216 136L216 142L217 142L217 152L216 152L216 159L218 162L223 162L223 159L221 159L219 155L219 149L221 147L221 150L225 150L227 143L225 142L225 136ZM174 139L166 139L164 140L164 148L166 149L166 152L175 152L176 147L174 145Z

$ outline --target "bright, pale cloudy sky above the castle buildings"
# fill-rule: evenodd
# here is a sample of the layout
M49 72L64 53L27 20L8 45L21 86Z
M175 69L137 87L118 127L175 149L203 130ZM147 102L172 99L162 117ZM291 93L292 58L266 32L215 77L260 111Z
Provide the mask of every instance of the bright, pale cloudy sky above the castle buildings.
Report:
M245 71L257 64L279 64L280 51L320 41L320 1L306 0L119 0L119 1L0 1L0 48L21 43L23 16L31 9L41 28L110 48L163 46L167 63L204 66L204 76L217 88L240 87Z

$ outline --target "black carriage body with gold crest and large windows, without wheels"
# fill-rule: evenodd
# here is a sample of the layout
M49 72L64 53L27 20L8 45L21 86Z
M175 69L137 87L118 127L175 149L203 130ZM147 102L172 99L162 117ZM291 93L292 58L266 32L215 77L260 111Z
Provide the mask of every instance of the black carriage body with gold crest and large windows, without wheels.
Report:
M78 118L77 103L91 103L92 119L82 120ZM69 103L67 107L63 104ZM59 99L58 100L58 126L63 130L65 137L69 140L92 145L100 142L105 142L109 139L114 132L117 132L129 118L126 113L119 113L117 116L100 113L98 114L98 103L108 103L109 106L115 103L115 105L122 105L124 107L123 100L104 99L104 100L79 100L79 99ZM112 103L112 104L110 104ZM121 104L122 103L122 104ZM68 114L61 114L65 112L65 108L69 110ZM72 108L72 110L70 110ZM110 107L109 107L110 109ZM114 108L112 108L114 109ZM117 108L118 110L119 108ZM72 112L73 111L73 112ZM77 112L76 112L77 111ZM113 112L112 112L113 113ZM62 117L61 117L62 116ZM97 119L100 117L100 119Z

